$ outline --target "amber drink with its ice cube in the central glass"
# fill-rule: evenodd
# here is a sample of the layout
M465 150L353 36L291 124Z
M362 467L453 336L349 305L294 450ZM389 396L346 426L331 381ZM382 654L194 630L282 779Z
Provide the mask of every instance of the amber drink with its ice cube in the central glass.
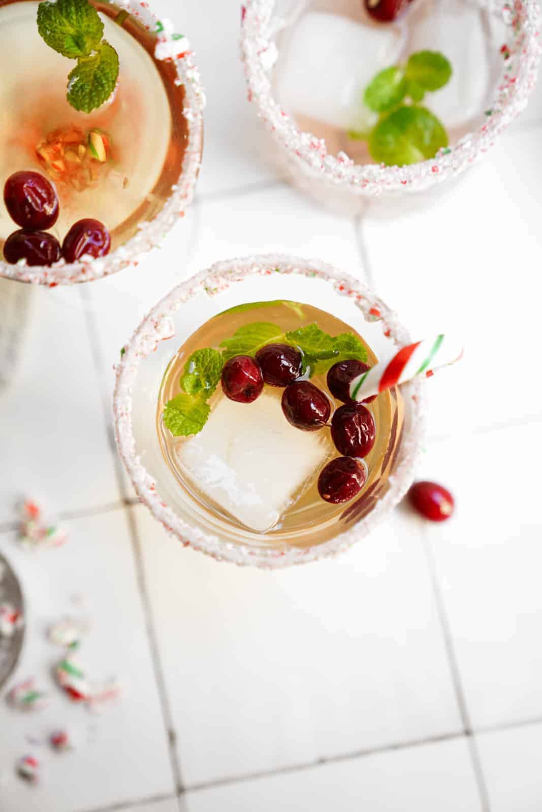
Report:
M324 541L344 529L337 523L340 517L345 521L345 516L358 519L385 490L402 434L403 406L397 389L384 392L367 407L375 418L376 440L364 460L366 483L351 503L340 505L324 502L317 489L323 466L340 456L330 430L324 426L309 432L290 426L280 405L284 391L281 387L266 385L254 403L234 404L223 395L219 383L209 401L210 417L201 435L173 437L163 425L163 408L168 400L180 394L180 378L189 356L206 347L219 349L223 339L255 321L272 322L284 332L313 322L329 335L350 332L365 344L367 363L374 365L377 361L362 335L345 322L307 304L271 302L258 309L215 316L190 336L164 374L157 408L163 456L184 498L197 507L207 525L218 523L223 529L252 531L269 542L287 539L302 545L303 536L310 535L314 543L315 532L319 533L319 541ZM330 395L325 373L310 380L326 393L333 409L341 405ZM236 465L237 471L228 470ZM267 484L262 484L264 480ZM217 491L217 482L226 484ZM216 493L220 494L218 499L213 498Z

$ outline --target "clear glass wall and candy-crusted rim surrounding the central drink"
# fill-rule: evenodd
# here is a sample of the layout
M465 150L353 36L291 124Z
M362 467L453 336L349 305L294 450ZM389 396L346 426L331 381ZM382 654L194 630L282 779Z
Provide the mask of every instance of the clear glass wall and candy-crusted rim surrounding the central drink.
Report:
M121 352L114 399L120 456L155 518L184 545L216 559L264 568L323 558L369 533L410 486L424 428L425 383L417 379L394 390L388 425L379 428L388 432L388 447L371 486L341 506L331 525L308 521L305 532L257 533L202 510L180 487L163 455L157 404L164 374L177 350L211 317L239 304L275 300L300 302L332 314L362 335L379 358L410 341L384 302L358 279L323 262L282 255L222 261L174 288L141 322ZM209 420L212 417L211 411Z

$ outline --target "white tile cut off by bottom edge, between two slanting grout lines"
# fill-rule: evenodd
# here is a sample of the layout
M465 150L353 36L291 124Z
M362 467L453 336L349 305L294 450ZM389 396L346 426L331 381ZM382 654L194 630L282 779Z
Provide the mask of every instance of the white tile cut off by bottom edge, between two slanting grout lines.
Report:
M479 812L464 740L375 754L313 770L204 789L189 812Z

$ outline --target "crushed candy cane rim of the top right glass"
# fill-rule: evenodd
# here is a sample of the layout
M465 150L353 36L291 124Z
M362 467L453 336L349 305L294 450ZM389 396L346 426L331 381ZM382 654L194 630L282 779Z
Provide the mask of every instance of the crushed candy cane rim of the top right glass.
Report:
M501 133L527 106L540 62L540 7L534 0L488 0L488 11L501 11L509 30L503 45L503 71L486 120L457 144L441 149L436 158L410 166L358 165L340 152L327 153L324 139L296 127L273 96L271 71L277 56L272 15L275 0L247 0L241 7L241 58L249 87L249 101L288 158L306 175L349 188L356 196L383 192L419 192L459 175L482 158Z

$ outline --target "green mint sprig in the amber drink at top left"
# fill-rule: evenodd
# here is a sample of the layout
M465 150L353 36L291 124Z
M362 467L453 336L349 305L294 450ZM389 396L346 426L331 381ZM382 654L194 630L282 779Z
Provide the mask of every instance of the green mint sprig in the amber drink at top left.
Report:
M76 59L67 101L90 113L102 106L119 78L119 54L103 37L103 23L89 0L46 0L37 6L37 30L59 54Z

